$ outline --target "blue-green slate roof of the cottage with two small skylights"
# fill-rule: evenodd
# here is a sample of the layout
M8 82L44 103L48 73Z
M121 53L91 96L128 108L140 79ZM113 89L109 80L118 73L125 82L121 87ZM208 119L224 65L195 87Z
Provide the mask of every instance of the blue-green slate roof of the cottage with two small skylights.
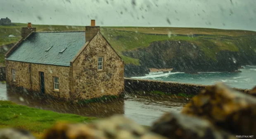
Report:
M85 31L33 32L6 60L70 66L70 61L84 44ZM63 53L59 53L62 50Z

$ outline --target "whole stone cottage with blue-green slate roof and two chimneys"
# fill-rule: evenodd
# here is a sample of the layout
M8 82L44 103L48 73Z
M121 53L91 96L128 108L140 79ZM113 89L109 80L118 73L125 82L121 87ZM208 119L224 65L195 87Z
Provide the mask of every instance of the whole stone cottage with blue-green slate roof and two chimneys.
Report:
M6 53L6 82L59 99L88 100L124 90L124 62L100 33L36 32L21 28L21 39Z

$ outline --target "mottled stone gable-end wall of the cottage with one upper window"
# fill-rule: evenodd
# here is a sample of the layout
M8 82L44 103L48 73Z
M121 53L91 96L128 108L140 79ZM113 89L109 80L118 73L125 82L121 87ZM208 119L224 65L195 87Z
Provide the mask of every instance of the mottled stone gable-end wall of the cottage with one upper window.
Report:
M98 56L103 56L103 71L97 70ZM71 92L77 100L123 92L123 61L100 34L91 40L72 65Z

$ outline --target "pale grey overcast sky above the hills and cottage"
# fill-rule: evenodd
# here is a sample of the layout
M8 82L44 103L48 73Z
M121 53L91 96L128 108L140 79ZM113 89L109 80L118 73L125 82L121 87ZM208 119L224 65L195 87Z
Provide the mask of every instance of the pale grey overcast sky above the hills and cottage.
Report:
M51 25L167 26L256 31L256 0L0 0L0 18Z

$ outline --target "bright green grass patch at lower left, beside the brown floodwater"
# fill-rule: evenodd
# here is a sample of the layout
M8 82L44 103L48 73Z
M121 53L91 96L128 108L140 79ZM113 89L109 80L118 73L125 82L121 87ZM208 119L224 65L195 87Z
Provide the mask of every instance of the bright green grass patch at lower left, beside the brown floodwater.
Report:
M95 119L30 108L10 101L0 101L0 127L23 128L34 134L42 134L58 122L84 123Z

